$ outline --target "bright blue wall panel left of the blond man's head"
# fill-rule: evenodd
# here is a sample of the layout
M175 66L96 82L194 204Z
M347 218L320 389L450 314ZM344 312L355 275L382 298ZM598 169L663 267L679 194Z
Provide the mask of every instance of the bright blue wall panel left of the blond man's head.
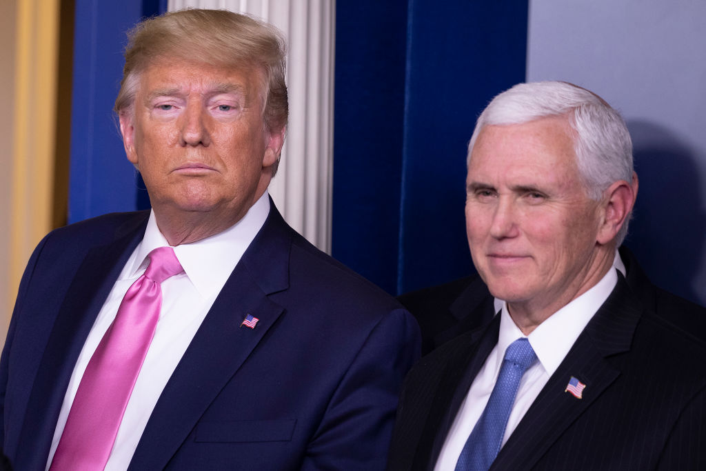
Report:
M68 222L145 207L111 110L125 33L140 18L166 10L167 0L76 0Z

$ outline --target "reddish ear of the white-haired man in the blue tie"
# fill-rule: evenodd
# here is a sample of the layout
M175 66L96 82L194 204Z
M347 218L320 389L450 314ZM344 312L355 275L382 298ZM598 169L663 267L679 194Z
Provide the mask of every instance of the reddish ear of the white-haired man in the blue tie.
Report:
M638 196L638 186L638 174L633 172L633 181L618 180L606 190L597 237L599 244L611 242L626 224Z

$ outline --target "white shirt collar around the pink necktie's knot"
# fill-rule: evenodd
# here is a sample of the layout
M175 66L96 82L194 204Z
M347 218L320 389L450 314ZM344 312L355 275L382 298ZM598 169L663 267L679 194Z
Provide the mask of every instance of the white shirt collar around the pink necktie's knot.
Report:
M198 242L174 247L174 254L184 272L203 297L212 297L220 292L241 256L265 224L269 213L270 199L265 191L246 215L225 231ZM128 278L136 278L142 273L147 268L146 258L150 251L163 246L169 246L169 242L157 227L155 213L152 211L145 236L135 249L133 264L126 273Z

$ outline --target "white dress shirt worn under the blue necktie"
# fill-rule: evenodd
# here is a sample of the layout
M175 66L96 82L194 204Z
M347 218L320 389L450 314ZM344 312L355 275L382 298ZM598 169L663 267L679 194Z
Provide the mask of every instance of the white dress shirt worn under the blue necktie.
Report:
M620 257L616 256L620 261ZM622 264L622 261L620 261ZM614 266L616 262L614 261ZM623 266L623 270L624 270ZM608 270L608 273L587 292L582 294L572 302L563 306L532 330L530 335L524 335L510 318L507 303L501 301L500 333L498 343L491 350L486 362L481 367L476 378L473 380L468 390L466 398L463 400L456 418L446 436L446 440L436 460L435 471L453 471L463 447L471 434L473 427L481 417L486 403L490 398L493 387L500 374L500 367L505 357L505 350L518 338L527 338L532 345L534 353L537 354L537 362L534 362L525 375L522 376L520 387L517 389L515 403L510 412L508 424L505 427L503 443L525 416L530 405L549 381L549 378L563 361L574 342L585 328L587 323L596 314L599 307L608 299L618 282L616 270ZM569 378L566 378L568 383Z

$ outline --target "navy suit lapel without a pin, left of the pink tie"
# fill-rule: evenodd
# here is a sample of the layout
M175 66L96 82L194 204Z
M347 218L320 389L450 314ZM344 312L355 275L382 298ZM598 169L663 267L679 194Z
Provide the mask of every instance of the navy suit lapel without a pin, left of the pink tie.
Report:
M44 469L73 366L115 280L142 238L148 214L121 227L111 244L90 249L76 271L32 385L18 442L23 445L14 463L18 469Z

